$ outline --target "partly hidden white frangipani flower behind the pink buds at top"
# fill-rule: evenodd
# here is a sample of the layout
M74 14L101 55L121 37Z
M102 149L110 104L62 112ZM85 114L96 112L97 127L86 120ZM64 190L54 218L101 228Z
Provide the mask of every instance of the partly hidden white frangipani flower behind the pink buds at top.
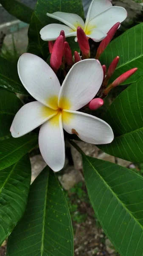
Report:
M107 32L115 23L126 19L127 12L123 7L112 6L109 0L93 0L85 23L79 15L73 13L54 12L47 15L65 25L53 23L43 27L40 31L42 40L56 40L61 30L64 30L65 37L76 36L77 27L80 26L88 38L99 42L107 36Z

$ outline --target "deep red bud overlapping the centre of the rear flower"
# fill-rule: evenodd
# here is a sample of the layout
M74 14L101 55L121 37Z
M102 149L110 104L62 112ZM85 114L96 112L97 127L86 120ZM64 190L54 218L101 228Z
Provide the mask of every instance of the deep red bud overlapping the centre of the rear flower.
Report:
M80 26L77 28L77 38L81 52L86 57L90 55L90 45L83 29Z

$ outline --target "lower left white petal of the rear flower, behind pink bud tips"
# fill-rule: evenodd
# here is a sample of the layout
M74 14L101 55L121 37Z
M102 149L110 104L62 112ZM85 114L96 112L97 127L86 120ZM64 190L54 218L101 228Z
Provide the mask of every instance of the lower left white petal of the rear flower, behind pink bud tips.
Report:
M70 37L70 36L76 36L76 31L71 29L69 26L62 25L62 24L49 24L45 27L43 27L40 30L40 35L42 40L44 41L52 41L56 40L56 38L59 36L61 30L64 30L65 37Z

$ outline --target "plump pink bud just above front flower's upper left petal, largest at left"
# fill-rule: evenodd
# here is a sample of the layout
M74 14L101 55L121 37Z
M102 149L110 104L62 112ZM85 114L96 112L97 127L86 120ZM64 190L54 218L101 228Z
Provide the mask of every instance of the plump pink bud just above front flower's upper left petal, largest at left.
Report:
M53 50L50 56L50 66L55 73L57 72L57 70L62 64L63 53L64 53L64 37L62 35L59 35L53 45Z

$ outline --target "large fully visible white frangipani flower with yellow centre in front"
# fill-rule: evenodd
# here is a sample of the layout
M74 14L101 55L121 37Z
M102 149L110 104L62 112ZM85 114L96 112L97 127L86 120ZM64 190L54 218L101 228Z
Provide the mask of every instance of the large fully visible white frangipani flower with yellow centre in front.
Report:
M64 166L64 132L76 134L92 144L111 143L112 128L103 120L77 111L89 103L103 81L103 69L95 59L79 61L67 74L62 87L48 64L36 55L25 53L18 61L18 74L36 101L24 105L11 125L13 137L20 137L42 125L39 149L53 171Z

